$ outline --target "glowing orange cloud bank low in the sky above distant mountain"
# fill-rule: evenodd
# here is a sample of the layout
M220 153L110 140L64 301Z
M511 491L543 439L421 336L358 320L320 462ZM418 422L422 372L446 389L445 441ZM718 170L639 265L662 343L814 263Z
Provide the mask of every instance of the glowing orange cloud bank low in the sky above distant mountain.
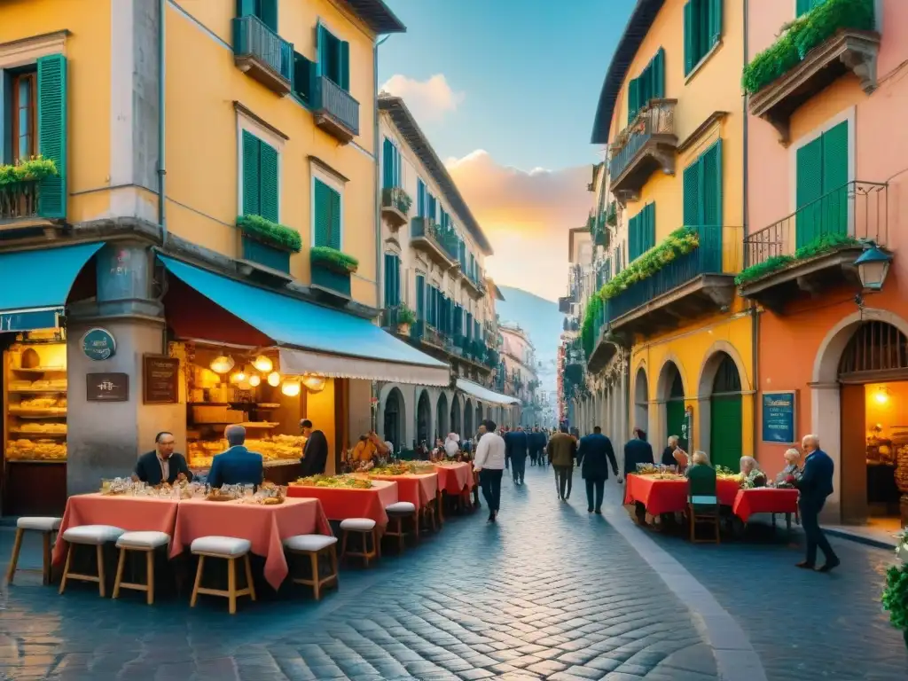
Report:
M496 283L550 301L565 295L568 229L586 222L592 201L589 166L526 172L482 150L447 165L495 249L487 268Z

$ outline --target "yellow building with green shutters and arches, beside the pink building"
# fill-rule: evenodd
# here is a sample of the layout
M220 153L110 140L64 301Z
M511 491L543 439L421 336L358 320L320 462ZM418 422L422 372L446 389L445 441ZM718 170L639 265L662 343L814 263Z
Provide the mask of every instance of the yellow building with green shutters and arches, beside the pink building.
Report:
M612 200L591 370L630 350L622 401L656 453L669 435L735 468L753 453L754 341L743 266L740 4L644 0L609 65L593 142ZM610 349L610 350L609 350ZM610 406L606 410L611 409Z

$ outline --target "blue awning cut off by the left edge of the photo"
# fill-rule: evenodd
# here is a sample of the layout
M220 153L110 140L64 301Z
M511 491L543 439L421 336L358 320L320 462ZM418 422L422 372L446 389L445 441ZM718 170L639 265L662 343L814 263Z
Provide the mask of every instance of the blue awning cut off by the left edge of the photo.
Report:
M103 243L0 254L0 331L53 329L85 263Z

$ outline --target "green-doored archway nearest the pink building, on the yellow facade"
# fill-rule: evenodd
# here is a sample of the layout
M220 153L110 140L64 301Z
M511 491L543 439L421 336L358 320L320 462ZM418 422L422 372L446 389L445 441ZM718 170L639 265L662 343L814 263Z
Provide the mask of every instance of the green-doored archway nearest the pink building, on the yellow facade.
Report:
M721 357L709 397L709 460L714 466L739 470L743 453L744 414L741 376L727 352Z

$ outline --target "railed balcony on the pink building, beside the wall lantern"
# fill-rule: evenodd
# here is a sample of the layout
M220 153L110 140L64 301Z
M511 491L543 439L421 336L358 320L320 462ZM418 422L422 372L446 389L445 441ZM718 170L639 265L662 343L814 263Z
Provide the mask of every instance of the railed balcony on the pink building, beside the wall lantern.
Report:
M888 242L889 185L854 181L744 240L741 295L781 310L803 292L859 285L854 261L863 242Z

